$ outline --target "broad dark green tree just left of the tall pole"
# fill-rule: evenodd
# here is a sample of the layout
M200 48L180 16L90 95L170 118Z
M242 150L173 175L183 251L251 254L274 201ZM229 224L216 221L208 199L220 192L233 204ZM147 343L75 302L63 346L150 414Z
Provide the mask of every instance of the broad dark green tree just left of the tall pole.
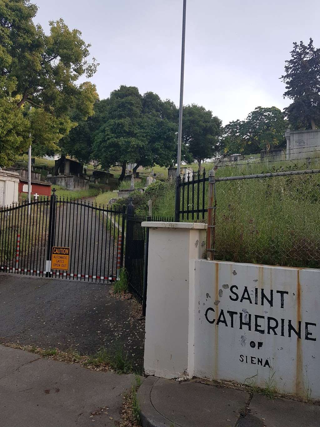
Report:
M176 156L177 122L170 101L161 101L153 92L143 96L135 87L120 86L104 101L100 123L94 134L93 158L107 169L127 163L139 166L169 166Z

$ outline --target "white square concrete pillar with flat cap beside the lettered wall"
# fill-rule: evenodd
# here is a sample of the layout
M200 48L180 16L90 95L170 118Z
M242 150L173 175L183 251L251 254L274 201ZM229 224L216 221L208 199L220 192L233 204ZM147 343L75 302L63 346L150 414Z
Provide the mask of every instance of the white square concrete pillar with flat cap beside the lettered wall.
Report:
M189 316L189 310L194 312L194 264L205 254L207 224L143 222L142 226L149 228L145 373L187 377L192 375L194 356L194 315Z

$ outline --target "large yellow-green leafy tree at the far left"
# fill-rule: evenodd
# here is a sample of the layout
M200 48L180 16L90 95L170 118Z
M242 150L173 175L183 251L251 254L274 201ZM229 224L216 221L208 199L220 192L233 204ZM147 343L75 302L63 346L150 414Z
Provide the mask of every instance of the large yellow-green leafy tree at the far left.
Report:
M94 85L77 83L79 77L96 72L96 60L88 58L90 45L62 19L50 21L50 34L44 34L33 23L37 11L29 0L0 0L0 99L9 105L14 99L14 114L26 119L11 132L12 138L20 135L15 137L16 154L25 149L26 130L35 154L58 152L58 141L77 124L72 112L78 111L82 119L90 116L97 99Z

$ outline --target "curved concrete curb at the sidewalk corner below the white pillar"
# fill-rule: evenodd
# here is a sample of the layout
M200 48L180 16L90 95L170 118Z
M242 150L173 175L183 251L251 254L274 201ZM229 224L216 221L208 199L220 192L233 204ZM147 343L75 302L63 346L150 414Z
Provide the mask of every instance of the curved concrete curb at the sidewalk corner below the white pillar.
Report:
M141 423L143 427L170 427L172 421L161 415L151 403L150 394L153 386L159 380L149 375L141 384L137 396L141 407Z

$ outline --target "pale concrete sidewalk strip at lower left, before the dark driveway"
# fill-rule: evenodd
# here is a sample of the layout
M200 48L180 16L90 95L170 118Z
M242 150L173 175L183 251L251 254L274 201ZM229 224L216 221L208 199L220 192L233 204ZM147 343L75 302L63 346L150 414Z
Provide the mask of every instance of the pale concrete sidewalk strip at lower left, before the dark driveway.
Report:
M113 427L133 381L0 345L0 425Z

